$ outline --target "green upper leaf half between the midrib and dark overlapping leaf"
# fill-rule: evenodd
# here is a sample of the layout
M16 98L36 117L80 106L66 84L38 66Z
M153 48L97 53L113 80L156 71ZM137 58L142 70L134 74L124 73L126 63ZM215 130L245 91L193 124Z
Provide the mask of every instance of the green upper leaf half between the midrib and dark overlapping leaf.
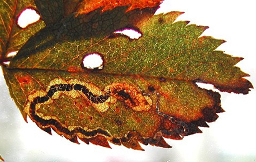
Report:
M19 57L14 58L10 67L69 70L69 65L72 65L83 72L81 62L84 55L99 52L104 55L106 62L101 70L102 74L202 80L224 91L227 90L225 84L232 82L234 87L229 86L229 92L248 93L247 90L237 90L243 87L252 88L249 82L242 79L247 75L233 67L240 58L215 51L225 41L199 37L207 27L187 25L186 21L172 24L179 14L182 12L170 12L140 22L144 23L143 26L138 24L144 35L138 41L130 42L124 37L108 39L105 36L95 39L94 42L91 39L63 42L54 45L52 50L42 49L42 52L31 55L25 62ZM65 52L63 48L67 48Z

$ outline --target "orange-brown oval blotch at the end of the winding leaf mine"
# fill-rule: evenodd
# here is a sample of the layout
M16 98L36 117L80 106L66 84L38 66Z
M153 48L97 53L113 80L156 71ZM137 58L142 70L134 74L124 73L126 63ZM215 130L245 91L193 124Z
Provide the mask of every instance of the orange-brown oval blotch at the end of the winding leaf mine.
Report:
M142 95L134 86L128 83L114 82L105 87L105 92L121 100L135 111L148 111L152 105L149 97Z

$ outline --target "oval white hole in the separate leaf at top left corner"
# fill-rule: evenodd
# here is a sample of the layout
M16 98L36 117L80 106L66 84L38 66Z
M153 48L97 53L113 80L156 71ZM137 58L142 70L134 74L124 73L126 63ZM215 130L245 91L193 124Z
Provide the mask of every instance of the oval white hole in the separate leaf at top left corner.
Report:
M26 28L30 24L39 21L40 15L32 8L27 8L21 12L17 19L17 25L21 28Z

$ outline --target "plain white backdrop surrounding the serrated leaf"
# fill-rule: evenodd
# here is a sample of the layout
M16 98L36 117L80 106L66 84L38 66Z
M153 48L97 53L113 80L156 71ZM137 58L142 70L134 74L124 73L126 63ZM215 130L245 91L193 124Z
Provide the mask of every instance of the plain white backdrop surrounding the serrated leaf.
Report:
M227 41L218 50L244 57L237 66L250 74L247 79L256 85L253 0L165 0L158 12L169 11L185 11L179 21L209 26L204 36ZM31 120L24 122L2 74L0 90L0 154L6 161L256 161L256 90L249 95L221 93L226 112L219 114L210 128L202 128L204 133L167 140L171 149L142 145L145 151L77 145L56 133L48 135Z

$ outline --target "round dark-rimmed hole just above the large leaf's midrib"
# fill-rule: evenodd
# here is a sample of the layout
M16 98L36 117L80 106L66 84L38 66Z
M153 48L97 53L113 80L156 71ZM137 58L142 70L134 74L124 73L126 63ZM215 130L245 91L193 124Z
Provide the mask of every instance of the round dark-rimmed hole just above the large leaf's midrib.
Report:
M82 67L87 70L102 70L104 59L99 52L87 54L82 59Z

